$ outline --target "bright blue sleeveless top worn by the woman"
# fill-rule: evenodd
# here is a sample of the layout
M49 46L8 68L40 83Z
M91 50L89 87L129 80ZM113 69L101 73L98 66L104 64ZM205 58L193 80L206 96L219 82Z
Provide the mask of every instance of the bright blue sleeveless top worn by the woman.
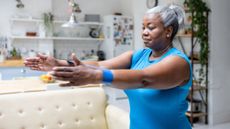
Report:
M171 89L125 90L130 103L130 129L192 129L185 116L188 108L186 97L192 85L192 67L188 57L176 48L155 60L149 60L151 53L149 48L134 52L130 69L144 69L168 56L179 56L190 65L190 79L185 85Z

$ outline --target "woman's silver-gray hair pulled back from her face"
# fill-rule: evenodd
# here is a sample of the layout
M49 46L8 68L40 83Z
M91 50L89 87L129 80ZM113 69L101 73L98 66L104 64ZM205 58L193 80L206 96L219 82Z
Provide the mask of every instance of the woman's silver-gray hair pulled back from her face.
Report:
M146 14L149 13L160 14L164 27L172 26L171 40L176 36L178 30L184 27L185 12L179 5L156 6L146 12Z

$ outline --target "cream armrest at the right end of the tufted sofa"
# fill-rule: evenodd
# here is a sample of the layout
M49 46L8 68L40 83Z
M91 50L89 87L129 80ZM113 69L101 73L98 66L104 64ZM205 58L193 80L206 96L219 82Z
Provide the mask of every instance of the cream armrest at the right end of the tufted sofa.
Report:
M108 129L129 129L128 112L113 105L108 105L105 114Z

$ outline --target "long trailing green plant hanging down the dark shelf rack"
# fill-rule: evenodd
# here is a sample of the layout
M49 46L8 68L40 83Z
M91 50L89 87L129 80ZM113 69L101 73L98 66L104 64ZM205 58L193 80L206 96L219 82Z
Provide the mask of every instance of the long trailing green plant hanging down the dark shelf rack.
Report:
M187 6L192 12L192 34L200 45L199 62L201 68L199 70L199 83L202 83L206 73L205 66L208 66L209 43L208 43L208 13L210 9L202 0L185 0L184 6Z

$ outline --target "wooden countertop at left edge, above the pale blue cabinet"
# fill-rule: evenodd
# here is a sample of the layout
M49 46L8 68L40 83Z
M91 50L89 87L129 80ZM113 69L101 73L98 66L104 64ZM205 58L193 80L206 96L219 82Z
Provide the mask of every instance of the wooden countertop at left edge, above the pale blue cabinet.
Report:
M24 61L23 60L5 60L4 62L0 63L0 67L23 67Z

